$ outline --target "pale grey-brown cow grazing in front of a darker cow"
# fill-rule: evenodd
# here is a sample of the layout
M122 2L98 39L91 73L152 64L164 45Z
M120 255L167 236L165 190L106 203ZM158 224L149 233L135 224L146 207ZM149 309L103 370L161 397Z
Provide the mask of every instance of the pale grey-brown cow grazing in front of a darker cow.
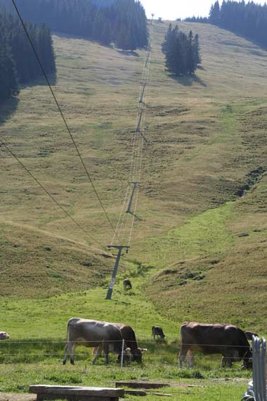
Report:
M105 363L108 364L108 353L122 352L122 333L113 324L98 322L97 320L80 319L72 317L67 322L67 343L63 364L70 353L70 363L74 364L74 351L77 345L85 347L101 347L105 355ZM92 364L96 363L99 353L96 352Z

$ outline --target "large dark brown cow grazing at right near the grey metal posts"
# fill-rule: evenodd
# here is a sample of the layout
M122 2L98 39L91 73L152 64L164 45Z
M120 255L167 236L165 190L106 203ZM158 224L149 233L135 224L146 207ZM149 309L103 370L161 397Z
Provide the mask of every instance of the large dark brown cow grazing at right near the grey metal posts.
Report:
M193 350L204 354L221 354L221 366L232 366L232 362L243 359L244 367L252 367L252 350L244 331L232 324L201 324L185 322L181 326L179 362L180 367L188 355L188 364L192 367Z

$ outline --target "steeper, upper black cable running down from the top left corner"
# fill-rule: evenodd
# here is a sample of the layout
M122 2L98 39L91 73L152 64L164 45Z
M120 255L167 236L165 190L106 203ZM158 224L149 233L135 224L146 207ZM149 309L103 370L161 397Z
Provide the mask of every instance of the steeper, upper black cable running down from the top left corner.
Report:
M38 53L37 53L37 51L36 51L36 49L35 49L35 47L34 47L34 44L33 44L32 39L31 39L31 37L30 37L30 34L29 34L28 30L27 30L27 27L26 27L24 21L22 20L22 16L20 15L20 11L18 10L17 5L15 4L15 0L11 0L11 1L12 1L12 3L13 3L13 6L14 6L14 8L15 8L16 13L18 14L18 18L20 19L20 22L21 22L21 24L22 24L23 30L25 31L25 34L27 35L27 39L29 40L30 45L32 46L32 50L34 51L34 56L37 58L37 61L38 61L38 63L39 63L39 66L40 66L40 68L41 68L41 71L43 72L43 75L44 75L44 77L45 77L45 79L46 79L46 82L47 82L48 87L49 87L49 89L50 89L50 91L51 91L51 94L52 94L52 96L53 96L53 99L54 99L54 101L56 102L56 106L58 107L58 110L59 110L59 112L60 112L61 117L63 118L63 122L64 122L64 124L65 124L65 127L67 128L67 132L68 132L68 134L70 135L70 138L71 138L71 140L72 140L72 143L73 143L73 145L74 145L74 148L76 149L77 154L78 154L78 156L79 156L79 159L81 160L81 163L82 163L82 165L83 165L83 167L84 167L84 171L86 172L86 175L87 175L87 177L89 178L89 182L91 183L91 186L92 186L92 188L93 188L93 191L96 193L96 197L98 198L98 202L100 203L100 206L101 206L101 208L102 208L102 210L103 210L103 212L104 212L104 214L105 214L106 219L108 220L108 223L110 224L110 227L112 228L112 231L115 232L115 227L113 226L113 224L112 224L112 222L111 222L111 220L110 220L110 217L108 217L108 213L107 213L107 211L105 210L105 207L104 207L104 205L103 205L102 200L100 199L100 196L98 195L98 191L96 190L96 186L93 184L93 180L91 179L91 176L90 176L90 174L89 174L89 171L88 171L88 169L86 168L86 165L85 165L85 163L84 163L84 160L83 160L83 158L82 158L82 155L81 155L81 153L79 152L79 148L78 148L76 142L74 141L74 137L73 137L73 135L72 135L72 133L71 133L71 131L70 131L70 127L67 125L67 121L66 121L66 119L65 119L65 116L64 116L64 114L63 114L63 111L62 111L62 109L60 108L60 105L59 105L59 103L58 103L58 100L57 100L57 98L56 98L56 95L55 95L55 93L54 93L54 91L53 91L53 89L52 89L52 87L51 87L51 84L50 84L49 79L48 79L48 77L47 77L47 75L46 75L46 72L45 72L44 67L43 67L43 65L42 65L42 63L41 63L41 60L40 60L40 58L39 58L39 56L38 56ZM115 232L115 235L117 236L116 232Z

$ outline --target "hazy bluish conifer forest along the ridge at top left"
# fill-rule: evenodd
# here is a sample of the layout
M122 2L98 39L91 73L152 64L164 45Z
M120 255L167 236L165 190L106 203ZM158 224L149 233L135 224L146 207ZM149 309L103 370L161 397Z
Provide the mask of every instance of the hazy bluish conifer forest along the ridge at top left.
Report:
M11 10L10 0L0 0ZM148 44L145 10L136 0L17 0L26 20L51 30L114 42L119 49L135 50Z

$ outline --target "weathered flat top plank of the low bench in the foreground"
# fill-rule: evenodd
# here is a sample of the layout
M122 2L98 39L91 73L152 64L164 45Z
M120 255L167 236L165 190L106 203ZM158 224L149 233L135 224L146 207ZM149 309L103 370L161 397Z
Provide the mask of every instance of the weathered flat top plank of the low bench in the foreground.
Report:
M123 388L103 388L103 387L77 387L77 386L49 386L34 385L30 386L30 393L51 394L51 395L86 395L96 397L124 397Z

